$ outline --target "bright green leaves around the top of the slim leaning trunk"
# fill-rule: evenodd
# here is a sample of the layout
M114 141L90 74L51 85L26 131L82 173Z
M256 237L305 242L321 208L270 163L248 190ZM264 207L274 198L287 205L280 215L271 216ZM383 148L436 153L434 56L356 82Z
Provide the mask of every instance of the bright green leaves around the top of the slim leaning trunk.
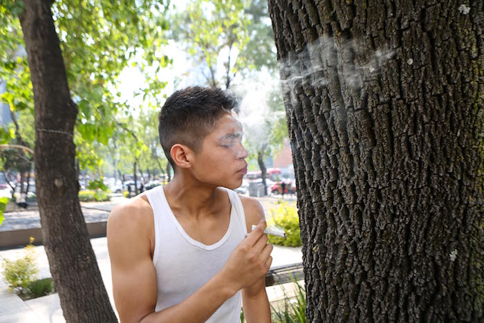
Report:
M102 165L102 155L96 151L99 146L93 142L107 145L118 115L128 115L133 109L116 93L121 71L127 66L142 71L151 66L159 71L169 64L159 49L166 43L163 35L169 28L167 4L156 0L53 1L68 84L79 109L75 144L82 169ZM0 80L6 82L0 100L12 111L28 111L33 116L30 70L18 19L21 10L21 1L0 3ZM156 82L145 95L156 95L164 86ZM2 141L6 135L0 131Z

